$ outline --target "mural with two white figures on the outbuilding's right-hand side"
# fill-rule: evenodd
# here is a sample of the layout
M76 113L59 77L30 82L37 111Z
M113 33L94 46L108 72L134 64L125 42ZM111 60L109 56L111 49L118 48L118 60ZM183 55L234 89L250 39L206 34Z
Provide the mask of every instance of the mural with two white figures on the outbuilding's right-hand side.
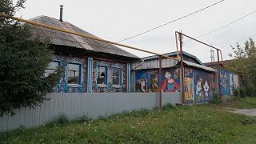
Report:
M194 100L195 102L209 102L213 92L211 90L210 73L194 70Z

